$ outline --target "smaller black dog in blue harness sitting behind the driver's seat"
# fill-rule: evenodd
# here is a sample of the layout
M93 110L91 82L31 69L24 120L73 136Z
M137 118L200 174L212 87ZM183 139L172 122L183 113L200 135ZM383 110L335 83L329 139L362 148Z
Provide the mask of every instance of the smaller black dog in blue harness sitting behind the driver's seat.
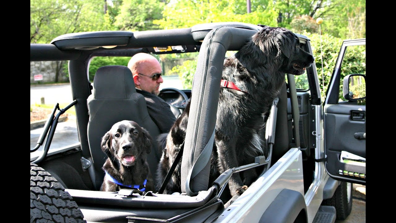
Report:
M102 138L101 147L108 156L103 170L101 191L121 188L153 191L154 183L146 161L151 151L151 136L134 121L115 123Z

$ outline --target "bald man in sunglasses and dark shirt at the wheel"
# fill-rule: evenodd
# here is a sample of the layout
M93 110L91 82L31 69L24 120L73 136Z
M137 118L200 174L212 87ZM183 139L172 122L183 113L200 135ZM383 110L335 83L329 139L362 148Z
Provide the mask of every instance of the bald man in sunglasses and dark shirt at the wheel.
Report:
M176 120L168 103L158 97L162 79L162 68L160 62L145 53L135 54L129 60L128 68L133 75L136 92L142 94L146 99L148 114L156 123L161 133L167 133Z

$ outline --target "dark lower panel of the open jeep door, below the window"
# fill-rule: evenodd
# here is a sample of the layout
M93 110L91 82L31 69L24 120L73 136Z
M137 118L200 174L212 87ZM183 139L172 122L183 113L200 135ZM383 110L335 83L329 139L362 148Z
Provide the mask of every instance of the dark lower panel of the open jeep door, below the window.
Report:
M362 120L352 120L355 112L364 114ZM325 144L326 169L332 177L345 178L343 180L366 184L366 161L343 154L346 151L356 156L366 158L366 138L356 136L355 133L366 133L366 106L328 104L325 112ZM355 161L356 160L356 161Z

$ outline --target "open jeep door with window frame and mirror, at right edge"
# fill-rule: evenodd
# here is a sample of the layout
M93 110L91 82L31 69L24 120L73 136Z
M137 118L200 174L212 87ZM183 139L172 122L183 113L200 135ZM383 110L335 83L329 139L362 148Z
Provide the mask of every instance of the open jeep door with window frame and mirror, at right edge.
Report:
M366 39L345 40L324 103L327 173L366 185Z

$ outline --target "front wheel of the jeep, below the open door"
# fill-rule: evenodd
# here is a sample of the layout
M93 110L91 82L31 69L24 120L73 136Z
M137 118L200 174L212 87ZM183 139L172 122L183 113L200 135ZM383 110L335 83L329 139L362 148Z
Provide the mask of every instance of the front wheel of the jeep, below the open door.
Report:
M322 205L334 206L337 220L345 220L352 211L352 183L341 182L333 197L323 200Z

